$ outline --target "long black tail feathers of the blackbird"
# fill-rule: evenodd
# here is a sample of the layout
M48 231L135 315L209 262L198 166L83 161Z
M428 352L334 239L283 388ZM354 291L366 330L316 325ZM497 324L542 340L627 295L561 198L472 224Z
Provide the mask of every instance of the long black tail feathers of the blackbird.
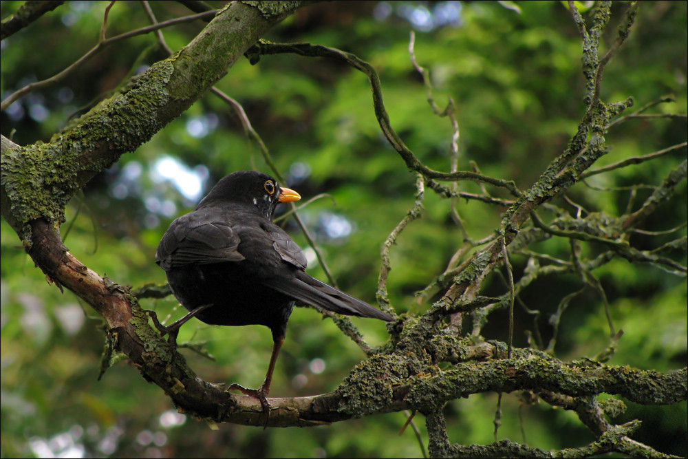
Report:
M297 270L296 277L274 277L270 279L269 285L270 288L294 299L338 314L394 321L394 318L386 312L328 286L304 273L303 270Z

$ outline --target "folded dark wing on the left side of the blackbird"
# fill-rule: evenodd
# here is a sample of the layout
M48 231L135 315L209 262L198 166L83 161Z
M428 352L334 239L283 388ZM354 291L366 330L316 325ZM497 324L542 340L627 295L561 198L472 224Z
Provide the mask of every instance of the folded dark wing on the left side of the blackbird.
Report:
M215 213L195 211L172 222L160 241L155 263L164 270L191 264L241 261L241 239L230 222Z

